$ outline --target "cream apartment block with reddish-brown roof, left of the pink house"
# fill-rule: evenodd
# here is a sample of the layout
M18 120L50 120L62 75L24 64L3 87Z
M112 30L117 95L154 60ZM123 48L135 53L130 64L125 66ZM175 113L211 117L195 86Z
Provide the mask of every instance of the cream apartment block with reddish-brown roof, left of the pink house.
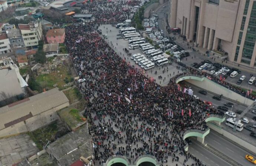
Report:
M26 47L36 47L43 39L43 30L40 22L19 24L20 32Z

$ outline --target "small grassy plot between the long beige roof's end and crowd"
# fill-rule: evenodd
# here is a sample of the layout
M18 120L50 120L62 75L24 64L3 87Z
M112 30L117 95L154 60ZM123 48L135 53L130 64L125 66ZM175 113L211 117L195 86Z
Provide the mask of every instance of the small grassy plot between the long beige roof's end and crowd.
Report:
M75 129L86 122L86 119L74 106L63 108L58 111L58 114L71 129Z

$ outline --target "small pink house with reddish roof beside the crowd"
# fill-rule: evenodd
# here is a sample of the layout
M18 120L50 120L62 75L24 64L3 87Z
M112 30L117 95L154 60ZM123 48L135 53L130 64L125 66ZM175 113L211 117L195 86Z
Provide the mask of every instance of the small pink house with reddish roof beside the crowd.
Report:
M46 33L46 40L48 43L64 43L65 29L52 29Z

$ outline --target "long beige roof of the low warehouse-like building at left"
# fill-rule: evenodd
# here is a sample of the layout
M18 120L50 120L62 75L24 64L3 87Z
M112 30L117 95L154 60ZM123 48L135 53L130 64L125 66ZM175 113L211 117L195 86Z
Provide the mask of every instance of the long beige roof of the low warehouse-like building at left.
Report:
M3 78L4 75L2 74L1 76L1 78ZM6 79L0 79L1 85L2 80ZM9 81L8 88L10 88L10 82L12 81L14 80ZM35 96L25 98L24 100L17 101L16 103L12 103L8 106L1 107L0 129L9 127L10 125L16 124L20 121L24 121L27 118L43 113L67 102L69 102L69 100L65 94L55 88L39 93Z

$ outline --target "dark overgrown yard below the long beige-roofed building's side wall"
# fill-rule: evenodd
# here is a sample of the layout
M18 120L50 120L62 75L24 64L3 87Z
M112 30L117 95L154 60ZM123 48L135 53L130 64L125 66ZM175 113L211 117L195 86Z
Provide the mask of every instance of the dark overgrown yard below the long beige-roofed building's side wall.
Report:
M68 132L68 130L66 130L65 132L59 132L57 124L58 121L54 121L45 127L39 128L32 132L28 132L27 134L36 143L37 148L43 150L43 147L47 144L48 141L54 142L56 140L56 135L60 137Z

